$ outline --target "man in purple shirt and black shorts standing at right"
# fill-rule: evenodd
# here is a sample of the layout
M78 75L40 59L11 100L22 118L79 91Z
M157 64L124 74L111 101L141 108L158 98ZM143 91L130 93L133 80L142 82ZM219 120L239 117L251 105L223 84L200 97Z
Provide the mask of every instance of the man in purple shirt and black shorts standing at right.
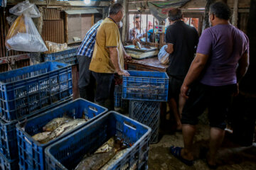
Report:
M181 86L181 96L187 98L181 119L184 148L171 147L170 152L187 165L193 165L192 144L198 116L208 108L210 149L206 163L216 168L215 154L225 135L225 115L249 66L249 40L230 25L229 18L226 4L216 2L210 6L212 27L203 31L196 57Z

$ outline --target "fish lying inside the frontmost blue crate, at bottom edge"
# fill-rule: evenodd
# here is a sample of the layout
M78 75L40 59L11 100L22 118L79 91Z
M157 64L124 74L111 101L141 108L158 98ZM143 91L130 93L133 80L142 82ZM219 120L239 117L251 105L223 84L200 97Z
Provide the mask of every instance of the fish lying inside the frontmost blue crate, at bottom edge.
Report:
M94 154L85 155L75 170L106 170L117 159L127 152L127 146L122 140L111 137Z

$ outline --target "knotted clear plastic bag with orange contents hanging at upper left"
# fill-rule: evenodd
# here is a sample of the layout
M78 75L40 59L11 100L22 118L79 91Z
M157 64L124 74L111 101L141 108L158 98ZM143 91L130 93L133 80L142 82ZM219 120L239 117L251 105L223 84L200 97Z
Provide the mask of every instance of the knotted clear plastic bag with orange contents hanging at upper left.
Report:
M10 9L18 15L6 36L6 47L9 50L25 52L45 52L47 47L38 33L32 18L40 16L38 8L28 1L23 1Z

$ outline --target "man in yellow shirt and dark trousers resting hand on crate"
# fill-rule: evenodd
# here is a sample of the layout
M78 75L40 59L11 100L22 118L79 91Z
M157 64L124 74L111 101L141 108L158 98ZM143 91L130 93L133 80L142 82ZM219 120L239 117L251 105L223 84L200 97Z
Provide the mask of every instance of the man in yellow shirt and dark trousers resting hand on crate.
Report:
M97 82L95 101L101 106L112 109L107 103L114 73L129 76L124 70L124 53L117 23L124 17L121 4L112 4L109 16L102 21L97 30L95 48L90 63L92 76Z

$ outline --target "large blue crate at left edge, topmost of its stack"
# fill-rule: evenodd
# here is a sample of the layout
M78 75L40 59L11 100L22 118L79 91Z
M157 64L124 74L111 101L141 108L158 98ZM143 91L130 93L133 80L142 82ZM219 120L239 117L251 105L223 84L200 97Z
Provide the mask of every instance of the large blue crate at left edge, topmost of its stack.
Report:
M0 115L6 121L38 113L72 95L70 64L43 62L0 74Z

